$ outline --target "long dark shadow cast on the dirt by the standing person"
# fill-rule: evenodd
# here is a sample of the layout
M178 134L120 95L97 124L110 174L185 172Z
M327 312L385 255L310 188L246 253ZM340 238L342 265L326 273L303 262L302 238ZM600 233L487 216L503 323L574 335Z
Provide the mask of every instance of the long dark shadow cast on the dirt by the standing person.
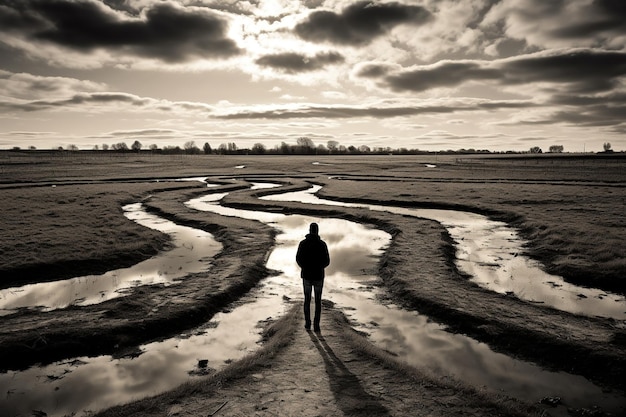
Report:
M319 334L309 332L313 344L320 352L326 365L337 406L346 416L389 416L387 410L376 397L366 392L358 378L354 376L328 346L326 339Z

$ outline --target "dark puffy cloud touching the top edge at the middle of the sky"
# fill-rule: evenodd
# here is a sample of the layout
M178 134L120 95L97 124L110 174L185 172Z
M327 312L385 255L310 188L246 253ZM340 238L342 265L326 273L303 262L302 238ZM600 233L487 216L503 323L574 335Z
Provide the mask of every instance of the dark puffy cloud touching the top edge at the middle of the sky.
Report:
M421 24L431 19L421 6L401 3L361 1L346 7L341 13L312 12L295 27L303 39L341 45L365 45L400 24Z

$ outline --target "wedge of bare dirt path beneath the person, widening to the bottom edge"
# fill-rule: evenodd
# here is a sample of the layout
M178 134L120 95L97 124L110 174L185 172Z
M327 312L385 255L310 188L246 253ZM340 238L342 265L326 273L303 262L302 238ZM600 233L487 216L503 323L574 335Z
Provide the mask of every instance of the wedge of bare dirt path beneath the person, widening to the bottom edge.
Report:
M294 314L291 342L265 365L218 384L210 392L178 397L160 411L115 415L145 416L146 411L151 416L223 417L530 413L527 405L483 395L399 365L352 331L338 311L324 311L321 333L302 327L299 308Z

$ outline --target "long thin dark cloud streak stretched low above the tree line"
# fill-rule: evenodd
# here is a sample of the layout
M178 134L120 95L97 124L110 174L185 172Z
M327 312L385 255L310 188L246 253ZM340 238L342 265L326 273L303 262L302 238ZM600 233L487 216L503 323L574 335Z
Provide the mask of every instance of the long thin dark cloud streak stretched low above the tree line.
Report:
M348 107L348 106L308 106L298 109L273 109L267 111L240 111L216 116L220 119L305 119L328 118L348 119L359 117L389 118L415 116L420 114L447 114L459 111L481 111L498 108L526 108L534 104L526 101L474 101L466 104L400 106L400 107Z

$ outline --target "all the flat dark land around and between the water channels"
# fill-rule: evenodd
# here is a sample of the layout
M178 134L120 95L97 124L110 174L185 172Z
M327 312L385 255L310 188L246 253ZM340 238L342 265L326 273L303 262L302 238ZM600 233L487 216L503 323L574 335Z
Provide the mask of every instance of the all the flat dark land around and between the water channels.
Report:
M240 188L245 181L280 182L293 188L316 183L324 186L322 196L328 199L484 214L517 229L528 242L528 256L541 261L547 271L581 286L626 294L626 158L622 155L287 157L6 152L0 154L1 288L102 273L166 249L167 236L123 216L123 204L144 199L151 211L165 218L213 233L224 250L210 272L181 285L141 287L133 297L96 306L48 313L25 310L3 318L1 369L79 355L132 352L140 344L209 320L270 273L264 262L274 243L272 230L255 221L198 213L183 205L191 196L207 191L198 182L175 181L186 177L208 177L221 184L218 189L222 190ZM289 212L312 210L298 203L261 203L246 192L238 193L230 203ZM349 216L392 233L393 242L382 256L378 272L398 303L508 355L553 370L574 371L607 388L623 390L626 386L624 323L576 316L478 288L456 269L454 246L445 229L432 221L383 213L365 215L350 208L319 207L315 212ZM189 302L169 302L181 296ZM332 306L327 309L324 320L329 331L324 343L333 343L338 361L334 371L323 365L303 371L294 365L302 352L314 360L323 346L299 329L297 314L292 312L268 329L264 347L247 361L233 364L193 388L114 408L104 415L168 415L172 404L182 404L184 410L190 404L204 401L207 405L217 398L231 403L238 399L239 407L230 411L225 407L220 411L223 415L244 415L245 410L260 412L254 404L273 395L275 403L267 405L271 414L273 407L288 400L287 394L278 390L268 394L268 387L276 386L276 381L297 385L298 378L307 377L324 385L333 376L354 392L342 392L337 382L331 381L329 395L335 401L317 414L332 415L339 410L351 415L405 415L407 409L402 407L417 403L433 415L450 415L450 410L471 415L540 412L463 381L450 383L407 369L354 334ZM28 346L26 354L24 346ZM306 346L318 349L307 350ZM260 372L263 378L258 378ZM321 386L316 387L322 392ZM380 387L384 389L373 396L372 390ZM369 399L365 401L368 407L355 403L357 397ZM283 409L287 410L283 414L305 413L315 399L307 401L311 403L299 401L299 405Z

